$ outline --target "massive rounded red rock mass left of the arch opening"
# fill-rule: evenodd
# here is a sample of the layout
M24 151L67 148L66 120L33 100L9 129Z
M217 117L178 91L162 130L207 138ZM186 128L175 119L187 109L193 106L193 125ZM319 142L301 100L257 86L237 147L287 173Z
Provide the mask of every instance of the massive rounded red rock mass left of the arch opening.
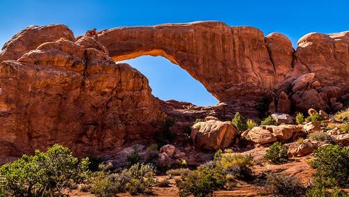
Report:
M0 63L1 162L54 143L103 155L156 132L165 113L147 78L106 52L66 26L32 26L4 46L1 59L17 60Z

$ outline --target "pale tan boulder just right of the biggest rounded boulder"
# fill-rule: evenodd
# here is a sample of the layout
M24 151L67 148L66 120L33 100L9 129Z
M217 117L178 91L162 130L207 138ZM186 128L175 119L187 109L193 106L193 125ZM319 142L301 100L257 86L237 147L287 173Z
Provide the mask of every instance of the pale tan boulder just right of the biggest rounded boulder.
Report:
M272 132L263 129L262 127L253 127L251 130L248 130L246 138L259 144L273 143L277 141Z

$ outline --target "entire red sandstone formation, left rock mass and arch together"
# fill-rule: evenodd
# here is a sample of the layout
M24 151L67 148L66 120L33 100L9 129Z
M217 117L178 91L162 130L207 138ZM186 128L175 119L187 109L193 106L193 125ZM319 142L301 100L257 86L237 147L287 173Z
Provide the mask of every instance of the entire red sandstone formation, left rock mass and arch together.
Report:
M310 72L322 85L347 94L348 43L348 31L311 33L294 50L280 33L265 37L253 27L222 22L88 31L77 38L64 25L29 26L0 53L0 161L54 143L80 157L112 155L123 145L150 139L165 120L165 109L180 103L157 100L146 77L114 61L164 56L222 102L207 110L180 104L176 116L205 110L205 115L232 116L246 108L255 113L255 101Z

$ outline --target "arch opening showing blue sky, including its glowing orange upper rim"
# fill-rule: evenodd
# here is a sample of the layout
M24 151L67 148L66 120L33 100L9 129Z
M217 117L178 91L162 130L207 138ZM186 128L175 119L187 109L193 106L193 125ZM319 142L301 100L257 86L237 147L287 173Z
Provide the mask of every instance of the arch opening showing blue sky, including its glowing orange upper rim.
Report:
M113 60L128 63L144 74L149 80L152 94L161 100L191 102L198 106L218 103L216 97L211 95L200 81L180 68L173 58L163 54L159 56L159 51L161 50L152 50L146 54L137 52L113 57Z

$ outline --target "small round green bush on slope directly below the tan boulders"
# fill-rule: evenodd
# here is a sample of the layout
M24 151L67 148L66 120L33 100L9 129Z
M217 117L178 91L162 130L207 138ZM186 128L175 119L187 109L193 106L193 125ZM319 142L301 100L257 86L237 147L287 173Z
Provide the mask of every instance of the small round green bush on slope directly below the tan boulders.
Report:
M269 146L265 159L272 161L273 164L281 164L288 160L287 152L288 146L278 141Z

